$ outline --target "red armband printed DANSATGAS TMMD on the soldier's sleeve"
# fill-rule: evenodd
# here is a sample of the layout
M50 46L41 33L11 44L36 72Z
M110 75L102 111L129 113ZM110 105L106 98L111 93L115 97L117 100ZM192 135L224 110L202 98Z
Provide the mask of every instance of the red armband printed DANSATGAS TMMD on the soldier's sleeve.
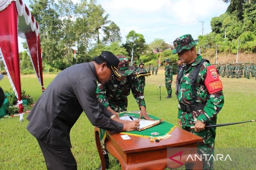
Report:
M208 92L212 94L221 91L223 87L216 68L212 65L206 67L206 70L207 75L204 80L204 85L206 86Z

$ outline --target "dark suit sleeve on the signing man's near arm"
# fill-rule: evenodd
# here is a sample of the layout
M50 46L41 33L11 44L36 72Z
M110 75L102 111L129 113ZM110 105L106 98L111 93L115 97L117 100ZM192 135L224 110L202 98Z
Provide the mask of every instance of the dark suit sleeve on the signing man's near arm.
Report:
M109 118L112 114L98 101L96 88L96 82L92 78L84 78L73 86L74 93L93 126L111 132L121 132L123 124Z

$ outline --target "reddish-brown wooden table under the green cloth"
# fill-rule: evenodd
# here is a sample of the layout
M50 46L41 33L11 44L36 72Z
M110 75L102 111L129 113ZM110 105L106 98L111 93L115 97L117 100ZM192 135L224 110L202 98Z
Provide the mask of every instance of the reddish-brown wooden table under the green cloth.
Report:
M107 132L105 140L108 152L120 161L122 169L164 169L178 168L182 165L168 160L167 148L190 148L184 149L182 159L180 156L174 157L176 160L187 164L189 160L186 158L189 154L192 156L197 154L197 142L202 142L203 138L189 133L183 129L176 127L172 132L172 137L161 139L160 142L150 142L149 138L131 137L129 140L123 140L122 134ZM99 129L95 127L95 141L100 155L102 170L105 170L105 161L100 146ZM173 151L175 154L175 150ZM171 156L172 154L168 155ZM185 155L185 156L184 156ZM187 155L187 157L186 157ZM167 161L168 160L168 161ZM169 162L169 163L168 163ZM191 161L189 169L202 169L202 162Z

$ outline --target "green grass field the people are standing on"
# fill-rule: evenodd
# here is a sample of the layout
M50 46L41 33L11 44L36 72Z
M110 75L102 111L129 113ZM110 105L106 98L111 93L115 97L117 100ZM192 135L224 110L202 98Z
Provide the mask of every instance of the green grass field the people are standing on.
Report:
M47 87L56 75L44 75L44 87ZM174 76L176 78L176 76ZM255 78L221 78L224 92L224 107L218 114L217 123L240 122L256 119L256 80ZM35 75L21 76L22 89L33 96L35 100L41 95L41 85ZM162 100L157 87L161 87ZM0 81L4 90L10 90L11 85L5 76ZM173 91L175 84L172 85ZM163 118L178 125L177 104L173 94L171 99L165 99L167 92L164 85L164 70L158 75L146 78L145 101L148 114ZM138 105L129 96L128 111L139 110ZM26 117L27 115L25 115ZM26 130L28 121L19 122L18 117L0 119L0 169L45 169L44 157L36 139ZM256 123L244 123L217 128L215 147L218 148L256 148ZM98 169L100 159L93 135L93 126L85 114L82 114L71 129L72 152L76 158L78 169ZM110 169L120 169L115 159L110 157ZM243 169L241 167L241 169Z

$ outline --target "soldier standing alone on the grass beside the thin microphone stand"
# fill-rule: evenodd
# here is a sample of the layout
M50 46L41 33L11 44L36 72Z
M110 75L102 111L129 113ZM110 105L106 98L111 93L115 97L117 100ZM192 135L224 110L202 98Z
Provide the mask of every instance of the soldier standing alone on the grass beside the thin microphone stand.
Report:
M165 87L167 90L168 96L166 99L169 99L172 97L172 75L173 75L173 68L170 65L170 59L167 58L165 61L165 68L164 68L164 75L165 75Z

